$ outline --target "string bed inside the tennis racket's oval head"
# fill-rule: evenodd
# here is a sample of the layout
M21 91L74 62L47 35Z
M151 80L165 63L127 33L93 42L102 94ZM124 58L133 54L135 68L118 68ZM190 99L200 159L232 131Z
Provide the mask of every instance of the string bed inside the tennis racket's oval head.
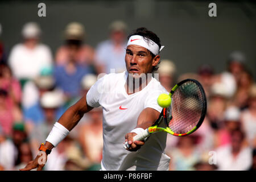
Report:
M203 110L203 95L193 81L185 82L172 96L172 120L169 127L176 134L191 131L199 122Z

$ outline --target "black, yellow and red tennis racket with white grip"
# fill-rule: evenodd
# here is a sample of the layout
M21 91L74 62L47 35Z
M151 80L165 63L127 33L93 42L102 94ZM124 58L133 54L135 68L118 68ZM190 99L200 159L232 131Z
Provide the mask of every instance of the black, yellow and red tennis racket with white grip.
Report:
M172 100L171 105L162 109L152 126L135 135L134 141L141 141L159 131L180 137L199 129L207 111L207 99L200 82L193 79L183 80L172 88L169 96ZM161 122L164 122L166 127L158 127ZM126 149L130 145L125 142L123 147Z

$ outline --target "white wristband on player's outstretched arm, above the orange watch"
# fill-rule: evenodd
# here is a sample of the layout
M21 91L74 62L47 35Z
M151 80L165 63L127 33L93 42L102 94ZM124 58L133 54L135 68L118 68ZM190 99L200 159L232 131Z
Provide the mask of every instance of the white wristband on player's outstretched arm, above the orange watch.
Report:
M56 122L52 128L52 131L49 133L46 141L56 147L68 134L68 129L66 129L60 123Z

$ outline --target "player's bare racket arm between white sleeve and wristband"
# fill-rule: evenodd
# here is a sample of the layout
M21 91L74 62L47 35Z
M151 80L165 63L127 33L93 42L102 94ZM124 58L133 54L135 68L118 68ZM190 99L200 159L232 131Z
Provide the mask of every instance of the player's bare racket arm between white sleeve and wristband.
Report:
M143 109L141 114L139 114L137 127L141 127L143 129L150 127L154 124L156 119L158 119L159 115L159 111L150 107Z

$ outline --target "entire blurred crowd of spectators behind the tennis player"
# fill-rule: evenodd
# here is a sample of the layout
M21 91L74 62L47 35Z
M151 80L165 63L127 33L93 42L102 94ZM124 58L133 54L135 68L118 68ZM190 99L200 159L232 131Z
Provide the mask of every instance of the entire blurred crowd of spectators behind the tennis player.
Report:
M63 45L53 53L43 44L38 23L24 24L22 42L10 52L0 26L0 170L18 170L35 158L53 124L84 96L100 73L125 71L127 25L108 27L96 48L86 43L84 26L67 24ZM256 169L256 84L246 56L227 55L226 70L202 64L196 73L177 75L175 61L161 60L159 81L167 89L185 78L199 80L208 100L203 125L188 137L168 135L170 170ZM255 71L255 70L254 70ZM85 114L51 154L44 170L98 170L102 158L102 108Z

